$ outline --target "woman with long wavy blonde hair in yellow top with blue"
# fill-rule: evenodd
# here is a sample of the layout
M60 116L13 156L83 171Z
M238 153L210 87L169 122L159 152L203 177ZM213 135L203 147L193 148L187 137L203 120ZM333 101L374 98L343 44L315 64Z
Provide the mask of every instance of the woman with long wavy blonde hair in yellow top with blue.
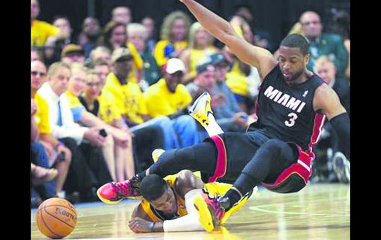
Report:
M187 48L190 26L190 18L182 11L174 11L164 18L160 41L154 50L156 62L160 67L167 63L169 58L180 57Z

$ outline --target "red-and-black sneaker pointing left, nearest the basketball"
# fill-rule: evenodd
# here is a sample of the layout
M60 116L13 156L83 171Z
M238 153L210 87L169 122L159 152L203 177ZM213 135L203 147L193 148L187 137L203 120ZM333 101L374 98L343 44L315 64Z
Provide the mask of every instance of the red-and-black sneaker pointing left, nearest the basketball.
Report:
M126 198L136 198L141 196L139 193L140 179L137 175L124 182L106 183L100 187L96 194L99 199L107 204L116 204Z

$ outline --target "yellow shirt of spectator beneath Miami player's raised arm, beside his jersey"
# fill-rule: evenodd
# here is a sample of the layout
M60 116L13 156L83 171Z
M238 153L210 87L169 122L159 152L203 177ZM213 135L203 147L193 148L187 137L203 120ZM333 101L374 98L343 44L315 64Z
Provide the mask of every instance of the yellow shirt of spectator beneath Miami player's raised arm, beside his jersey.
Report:
M234 93L240 96L249 96L249 87L246 76L239 70L238 61L234 62L232 70L226 74L226 85Z

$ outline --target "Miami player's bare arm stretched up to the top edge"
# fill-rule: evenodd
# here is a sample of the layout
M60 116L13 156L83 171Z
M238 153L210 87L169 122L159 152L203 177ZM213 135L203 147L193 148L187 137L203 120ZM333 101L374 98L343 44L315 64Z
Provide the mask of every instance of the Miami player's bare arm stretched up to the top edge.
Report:
M270 51L255 47L240 37L228 21L213 13L194 0L182 1L198 22L215 38L226 44L237 57L258 68L264 78L277 64Z

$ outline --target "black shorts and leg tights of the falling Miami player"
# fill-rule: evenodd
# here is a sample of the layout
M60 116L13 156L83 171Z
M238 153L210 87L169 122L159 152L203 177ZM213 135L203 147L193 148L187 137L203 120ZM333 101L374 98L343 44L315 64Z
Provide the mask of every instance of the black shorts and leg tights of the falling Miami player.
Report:
M269 138L257 132L224 133L220 136L226 147L228 161L226 174L217 180L219 182L235 183L244 170L245 174L249 173L257 182L254 186L261 182L270 183L275 181L288 166L297 160L298 150L289 147L286 143L280 146L281 151L273 154L271 159L270 155L268 158L256 157L256 153L262 145L265 145L263 148L266 148L266 151L270 149L271 152L274 145L283 143L279 140L276 140L279 142L269 141ZM207 139L201 144L164 152L160 160L152 165L150 173L165 177L188 169L200 171L203 181L207 182L207 179L215 173L217 155L216 145L211 139ZM248 166L246 167L246 165Z

